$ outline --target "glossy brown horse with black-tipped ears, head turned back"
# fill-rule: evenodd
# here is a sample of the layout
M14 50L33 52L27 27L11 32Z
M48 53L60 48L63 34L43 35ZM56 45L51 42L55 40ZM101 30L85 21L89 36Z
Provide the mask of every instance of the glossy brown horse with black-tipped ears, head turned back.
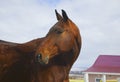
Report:
M43 38L19 44L0 40L0 82L69 82L81 49L77 26L62 10Z

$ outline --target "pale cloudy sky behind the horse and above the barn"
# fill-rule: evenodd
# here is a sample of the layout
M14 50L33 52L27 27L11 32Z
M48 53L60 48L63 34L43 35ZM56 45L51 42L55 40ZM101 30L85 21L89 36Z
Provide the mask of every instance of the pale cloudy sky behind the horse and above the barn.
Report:
M24 43L46 35L64 9L79 27L82 50L74 67L99 55L120 55L120 0L0 0L0 39Z

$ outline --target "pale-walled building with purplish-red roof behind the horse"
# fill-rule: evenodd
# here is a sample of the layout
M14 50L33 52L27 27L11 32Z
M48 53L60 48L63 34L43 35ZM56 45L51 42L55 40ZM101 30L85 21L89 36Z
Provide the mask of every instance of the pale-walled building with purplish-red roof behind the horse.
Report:
M106 80L119 80L120 82L120 56L100 55L95 63L84 71L85 82L106 82Z

